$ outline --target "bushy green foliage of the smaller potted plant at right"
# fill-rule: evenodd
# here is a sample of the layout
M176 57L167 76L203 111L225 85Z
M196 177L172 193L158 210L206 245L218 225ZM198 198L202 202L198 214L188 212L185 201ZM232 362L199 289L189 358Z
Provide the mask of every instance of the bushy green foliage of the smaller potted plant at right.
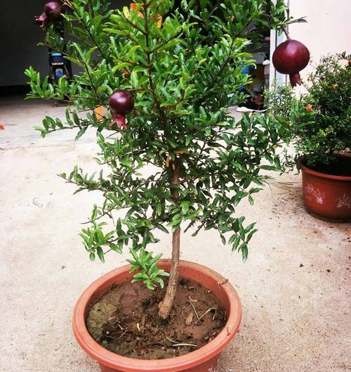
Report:
M323 57L309 77L307 94L297 97L282 86L269 95L270 110L291 123L296 158L312 167L333 162L333 155L351 147L351 67L345 53Z

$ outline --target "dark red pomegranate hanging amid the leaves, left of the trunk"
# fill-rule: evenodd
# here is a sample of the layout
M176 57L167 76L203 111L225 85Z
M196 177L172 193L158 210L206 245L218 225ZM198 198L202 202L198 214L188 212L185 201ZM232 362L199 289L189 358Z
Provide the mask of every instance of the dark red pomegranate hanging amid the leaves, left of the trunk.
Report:
M134 108L134 98L131 92L126 90L114 91L110 96L109 105L114 112L111 125L116 123L119 129L128 129L126 114Z

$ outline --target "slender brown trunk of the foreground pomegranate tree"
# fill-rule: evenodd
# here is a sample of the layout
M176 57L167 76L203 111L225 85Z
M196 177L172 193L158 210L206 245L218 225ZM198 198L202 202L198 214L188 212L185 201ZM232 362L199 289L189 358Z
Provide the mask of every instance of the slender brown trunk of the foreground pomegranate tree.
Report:
M180 184L178 163L173 163L172 184L173 185ZM173 189L172 195L175 203L177 203L179 199L178 190ZM159 316L161 317L161 319L168 318L169 313L171 312L173 306L174 297L176 297L179 277L179 260L180 260L180 229L176 229L173 232L171 273L169 276L166 295L164 297L164 300L159 304Z

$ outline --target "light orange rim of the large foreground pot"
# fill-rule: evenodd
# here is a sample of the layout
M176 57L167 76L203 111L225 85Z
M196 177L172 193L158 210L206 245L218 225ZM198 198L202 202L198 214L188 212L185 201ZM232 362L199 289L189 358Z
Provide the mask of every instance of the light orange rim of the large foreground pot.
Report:
M161 259L160 264L161 266L169 265L171 264L171 259ZM196 271L201 271L202 274L214 278L218 282L218 287L224 291L227 300L230 303L230 312L227 323L225 324L225 328L218 333L216 338L194 352L190 352L180 357L158 360L122 357L121 355L110 352L99 345L98 342L91 337L86 328L86 309L91 303L91 297L102 288L104 283L112 280L112 278L116 276L128 274L131 265L126 265L110 271L104 276L98 278L97 281L93 282L88 288L86 288L86 290L84 290L74 307L72 324L73 332L79 345L84 349L84 351L100 364L110 368L117 368L118 370L125 372L182 371L183 369L192 368L193 366L202 364L220 354L232 338L234 338L241 323L241 302L239 295L227 279L216 271L208 269L200 264L183 260L180 261L180 265L183 267L190 267L190 269Z

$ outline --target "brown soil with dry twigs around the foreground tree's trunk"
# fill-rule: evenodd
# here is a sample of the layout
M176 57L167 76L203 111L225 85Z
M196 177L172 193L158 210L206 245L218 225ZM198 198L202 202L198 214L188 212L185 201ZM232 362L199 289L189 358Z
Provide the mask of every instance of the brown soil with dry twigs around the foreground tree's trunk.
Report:
M199 349L225 327L225 309L199 284L181 280L167 321L158 316L165 289L123 283L100 297L86 325L106 349L124 357L165 359Z

